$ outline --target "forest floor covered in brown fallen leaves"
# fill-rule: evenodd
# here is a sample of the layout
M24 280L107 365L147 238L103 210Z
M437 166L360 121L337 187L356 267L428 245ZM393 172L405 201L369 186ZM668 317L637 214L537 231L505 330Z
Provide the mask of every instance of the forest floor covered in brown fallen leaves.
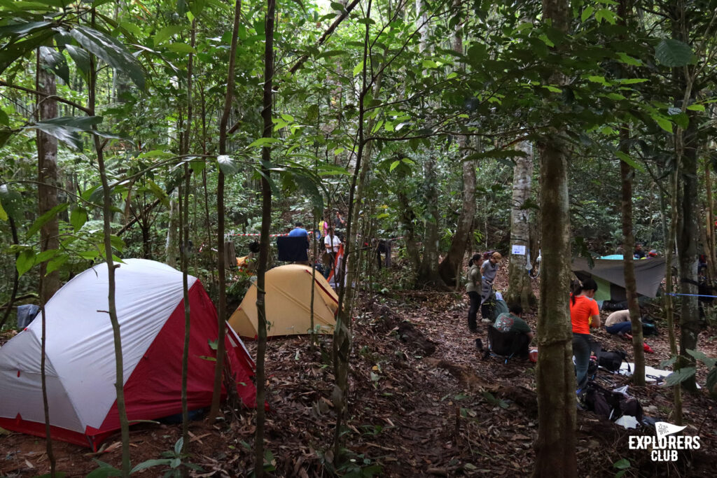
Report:
M505 269L505 267L504 267ZM507 271L498 277L500 282ZM502 277L501 277L502 276ZM346 457L335 459L331 440L336 419L331 392L331 338L270 340L267 347L267 461L281 477L320 477L338 469L351 476L481 476L516 477L532 468L538 434L535 366L497 358L481 360L475 338L467 330L467 300L460 294L404 292L362 297L353 321L350 419L343 440ZM526 320L535 328L536 317ZM655 353L647 365L659 368L669 357L667 334L648 339ZM630 343L604 331L594 333L608 350L627 350ZM706 330L700 346L717 356L717 331ZM6 336L2 342L9 339ZM252 353L254 343L247 343ZM698 368L698 382L706 371ZM623 376L600 371L603 386L629 383ZM647 416L670 421L672 392L663 386L630 386ZM652 462L650 452L628 449L630 431L578 411L579 476L614 476L614 464L627 465L625 476L713 477L717 463L716 402L706 391L685 394L686 434L700 436L701 448L680 452L678 462ZM254 413L227 408L226 420L190 426L191 458L204 472L196 477L239 477L250 473L255 432ZM139 424L130 431L133 464L158 459L174 448L181 426ZM105 449L88 449L54 441L57 469L83 477L100 459L118 467L119 436ZM621 462L621 460L623 460ZM0 476L34 477L49 472L44 440L24 434L0 434ZM362 474L363 473L363 474ZM138 473L161 476L155 467Z

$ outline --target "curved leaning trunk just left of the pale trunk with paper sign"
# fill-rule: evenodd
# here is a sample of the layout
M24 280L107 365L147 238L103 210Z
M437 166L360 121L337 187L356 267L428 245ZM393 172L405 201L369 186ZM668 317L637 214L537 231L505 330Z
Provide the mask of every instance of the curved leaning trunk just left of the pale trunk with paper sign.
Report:
M419 1L417 0L417 4L419 4ZM454 2L454 6L460 9L460 4L457 1ZM460 27L456 28L453 36L453 51L457 54L463 54L463 38L460 36ZM467 145L467 137L459 135L457 140L459 156L462 158ZM462 161L462 169L463 205L448 253L438 267L438 272L443 282L453 286L459 285L460 278L456 277L456 272L460 270L466 247L472 243L466 239L469 238L470 231L473 229L473 216L475 216L475 161Z

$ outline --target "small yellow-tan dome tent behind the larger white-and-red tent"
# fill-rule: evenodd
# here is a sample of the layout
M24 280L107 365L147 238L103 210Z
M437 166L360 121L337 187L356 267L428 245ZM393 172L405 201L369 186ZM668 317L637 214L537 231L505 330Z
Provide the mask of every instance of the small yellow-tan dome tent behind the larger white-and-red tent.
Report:
M266 274L267 336L300 335L311 328L311 267L290 264ZM257 336L257 287L252 286L229 317L229 325L242 337ZM333 333L338 296L326 279L316 272L314 285L314 327L318 333Z

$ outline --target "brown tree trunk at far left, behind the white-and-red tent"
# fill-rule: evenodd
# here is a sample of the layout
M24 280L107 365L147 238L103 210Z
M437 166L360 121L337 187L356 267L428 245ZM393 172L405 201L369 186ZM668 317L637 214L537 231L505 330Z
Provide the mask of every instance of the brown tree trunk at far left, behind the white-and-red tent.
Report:
M44 121L57 117L57 101L52 97L57 95L57 87L52 72L45 69L37 54L37 78L35 88L47 96L37 98L38 120ZM39 204L39 215L45 214L57 206L57 186L60 182L57 179L57 138L37 130L37 202ZM60 229L57 223L57 215L40 229L40 250L60 248ZM47 262L40 265L40 274L45 275ZM60 290L60 271L50 272L42 279L42 302L47 302L57 290Z

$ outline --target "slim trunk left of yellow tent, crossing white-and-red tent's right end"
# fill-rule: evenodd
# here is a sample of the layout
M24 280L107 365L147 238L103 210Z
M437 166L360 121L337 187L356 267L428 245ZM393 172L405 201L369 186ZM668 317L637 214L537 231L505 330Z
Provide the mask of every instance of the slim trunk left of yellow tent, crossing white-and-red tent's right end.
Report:
M229 47L229 67L227 68L227 95L224 96L224 110L219 120L219 154L227 154L227 126L229 113L232 112L234 99L234 62L237 56L237 38L239 37L239 19L242 16L242 1L234 4L234 27L232 29L232 44ZM214 391L212 392L212 408L209 409L209 418L219 416L219 400L222 396L222 373L224 372L224 354L226 352L224 338L227 334L227 277L224 274L224 173L219 169L217 181L217 276L219 277L219 343L217 344L217 366L214 367ZM263 403L263 402L262 402ZM257 397L257 408L259 408Z

